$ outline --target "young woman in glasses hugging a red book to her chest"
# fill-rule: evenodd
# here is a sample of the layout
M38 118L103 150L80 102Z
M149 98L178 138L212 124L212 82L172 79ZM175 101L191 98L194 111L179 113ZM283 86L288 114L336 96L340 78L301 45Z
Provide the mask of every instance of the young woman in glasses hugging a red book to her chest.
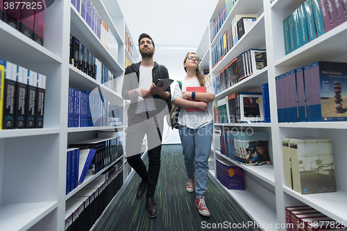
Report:
M201 74L195 53L187 53L183 67L187 76L182 81L182 90L178 83L175 87L174 103L180 107L178 130L185 156L187 191L192 192L195 189L195 205L198 207L198 212L203 216L210 216L205 203L205 191L213 133L214 87L211 80ZM206 87L206 90L205 92L189 92L187 87ZM187 111L188 108L194 108L194 110Z

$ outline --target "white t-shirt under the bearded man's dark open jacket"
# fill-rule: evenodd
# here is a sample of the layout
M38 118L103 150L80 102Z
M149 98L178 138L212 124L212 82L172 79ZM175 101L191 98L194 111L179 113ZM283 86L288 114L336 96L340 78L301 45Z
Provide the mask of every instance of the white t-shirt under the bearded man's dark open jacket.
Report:
M151 87L153 83L152 69L153 67L144 67L139 65L139 88L149 89L149 87ZM149 112L151 110L155 110L153 96L149 96L147 99L137 96L135 114L146 111Z

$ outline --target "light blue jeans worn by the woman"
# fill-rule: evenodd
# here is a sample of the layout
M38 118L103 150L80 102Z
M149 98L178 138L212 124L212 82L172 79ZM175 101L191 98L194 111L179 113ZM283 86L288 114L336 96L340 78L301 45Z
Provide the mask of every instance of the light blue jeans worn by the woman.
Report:
M211 153L213 123L197 129L179 126L188 178L194 178L196 199L204 196L208 185L208 158Z

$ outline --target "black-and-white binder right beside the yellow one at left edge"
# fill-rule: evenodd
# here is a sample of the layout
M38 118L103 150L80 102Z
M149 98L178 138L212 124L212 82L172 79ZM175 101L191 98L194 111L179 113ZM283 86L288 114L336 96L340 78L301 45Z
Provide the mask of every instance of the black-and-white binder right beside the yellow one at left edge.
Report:
M3 100L2 129L13 129L15 128L15 97L16 97L16 88L17 88L17 65L11 62L5 61L5 82L3 83L3 87L1 88L3 88L3 96L1 96L1 99ZM1 99L0 99L0 105L1 105ZM0 111L1 111L1 108L0 108Z

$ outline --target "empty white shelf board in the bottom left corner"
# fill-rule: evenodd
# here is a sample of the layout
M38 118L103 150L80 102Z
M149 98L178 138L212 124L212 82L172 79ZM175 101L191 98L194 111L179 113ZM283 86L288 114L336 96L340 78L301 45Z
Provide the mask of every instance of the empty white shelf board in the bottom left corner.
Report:
M57 206L56 201L1 205L0 230L28 230Z

